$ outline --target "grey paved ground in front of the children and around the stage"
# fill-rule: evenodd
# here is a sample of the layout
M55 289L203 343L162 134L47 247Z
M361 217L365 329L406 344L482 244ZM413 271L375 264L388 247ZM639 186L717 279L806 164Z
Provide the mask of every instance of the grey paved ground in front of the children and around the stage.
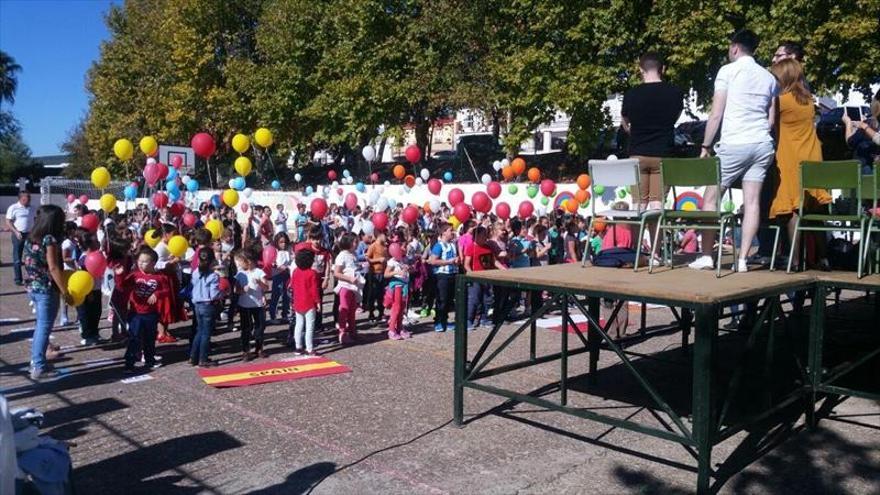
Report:
M7 234L0 251L8 263ZM121 358L120 346L81 348L78 332L65 329L53 333L53 342L69 348L55 364L70 374L36 385L26 376L31 332L21 330L33 326L33 316L8 264L0 280L0 388L13 406L44 411L46 433L75 444L79 493L690 493L695 486L694 460L678 445L475 391L465 396L467 426L452 426L453 335L428 325L409 341L372 330L366 344L331 348L328 356L352 373L225 390L204 385L183 362L183 340L159 348L167 366L151 380L123 384L121 365L106 361ZM648 316L649 325L671 320L665 309ZM540 331L539 351L558 349L559 337ZM631 349L674 359L679 341L679 334L659 336ZM232 360L237 334L216 336L214 349ZM269 350L289 356L277 343ZM499 359L527 353L522 340ZM689 387L682 368L636 361L655 371L679 408L675 398L687 397ZM605 353L609 369L592 388L596 395L575 391L570 401L658 425L645 407L650 401L617 363ZM558 369L550 363L492 383L553 398L545 387ZM572 376L585 371L583 356L575 358ZM582 379L574 386L588 388ZM880 492L880 407L849 399L833 410L836 419L816 431L794 412L769 440L752 430L718 447L713 465L727 473L720 491ZM756 450L777 443L752 461Z

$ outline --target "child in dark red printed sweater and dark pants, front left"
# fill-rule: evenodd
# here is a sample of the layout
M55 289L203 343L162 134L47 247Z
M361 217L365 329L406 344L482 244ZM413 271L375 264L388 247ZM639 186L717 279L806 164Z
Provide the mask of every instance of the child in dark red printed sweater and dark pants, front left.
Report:
M128 320L128 347L125 351L125 372L134 373L134 362L143 350L144 365L158 368L156 362L156 331L159 312L156 302L171 296L171 284L163 273L156 272L159 256L149 246L137 252L136 269L125 278L123 286L129 293L131 311Z

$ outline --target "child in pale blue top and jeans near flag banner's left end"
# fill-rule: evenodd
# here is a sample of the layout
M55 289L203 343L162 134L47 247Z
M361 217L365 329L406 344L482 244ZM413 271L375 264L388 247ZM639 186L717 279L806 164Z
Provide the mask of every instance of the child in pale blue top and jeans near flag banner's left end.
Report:
M190 348L189 364L201 368L215 366L208 359L211 331L217 321L218 302L222 300L220 277L214 272L216 258L211 249L199 250L198 268L192 274L192 303L196 315L196 334Z

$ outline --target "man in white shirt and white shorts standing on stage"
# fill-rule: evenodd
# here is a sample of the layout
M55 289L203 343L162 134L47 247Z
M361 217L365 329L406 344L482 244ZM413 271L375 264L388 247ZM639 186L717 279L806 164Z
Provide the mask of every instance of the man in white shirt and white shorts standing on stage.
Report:
M715 146L715 152L721 160L721 191L715 186L706 188L703 210L714 211L718 195L742 179L742 238L739 259L733 264L733 269L738 272L748 269L746 258L758 232L761 185L775 153L770 130L778 87L776 78L752 58L757 47L758 37L751 31L738 31L730 38L727 50L730 63L721 67L715 78L712 112L706 123L700 153L700 157L709 156L720 124L721 140ZM689 265L691 268L714 267L711 253L715 238L715 231L703 231L703 255Z

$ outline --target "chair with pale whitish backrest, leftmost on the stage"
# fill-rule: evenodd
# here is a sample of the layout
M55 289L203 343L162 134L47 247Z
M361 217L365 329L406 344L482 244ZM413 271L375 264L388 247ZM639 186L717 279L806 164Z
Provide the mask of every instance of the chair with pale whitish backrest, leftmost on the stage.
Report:
M660 211L637 211L637 210L605 210L596 211L596 191L595 186L602 187L626 187L630 190L639 190L639 161L636 159L625 160L590 160L587 162L590 171L590 207L592 216L590 217L590 225L587 232L593 231L593 222L597 217L604 217L606 225L624 224L638 225L639 236L636 246L636 256L633 261L633 271L639 269L639 255L641 254L642 239L645 235L645 221L648 218L657 217ZM633 189L634 188L634 189ZM599 195L601 196L601 195ZM589 237L587 237L589 239ZM589 242L589 241L587 241ZM584 255L581 259L581 266L586 266L589 253L589 246L584 249Z

